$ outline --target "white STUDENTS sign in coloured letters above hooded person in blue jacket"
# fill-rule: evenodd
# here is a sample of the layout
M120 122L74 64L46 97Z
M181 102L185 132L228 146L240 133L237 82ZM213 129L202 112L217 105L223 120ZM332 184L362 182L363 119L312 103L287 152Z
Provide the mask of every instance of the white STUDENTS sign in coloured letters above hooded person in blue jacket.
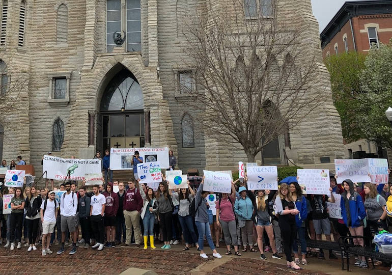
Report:
M335 171L338 176L337 183L345 179L353 182L370 182L369 160L362 159L335 159Z

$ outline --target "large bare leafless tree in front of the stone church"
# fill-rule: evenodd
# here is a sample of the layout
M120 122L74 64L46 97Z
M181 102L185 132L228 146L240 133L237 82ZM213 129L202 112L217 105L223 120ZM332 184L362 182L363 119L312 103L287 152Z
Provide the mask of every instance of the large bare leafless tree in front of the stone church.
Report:
M204 134L241 144L254 162L318 105L313 88L320 52L304 45L305 28L282 22L275 5L247 10L240 0L218 8L208 3L184 31L183 64L195 73L191 80L179 77L178 85L189 93L188 106L202 108L195 119Z

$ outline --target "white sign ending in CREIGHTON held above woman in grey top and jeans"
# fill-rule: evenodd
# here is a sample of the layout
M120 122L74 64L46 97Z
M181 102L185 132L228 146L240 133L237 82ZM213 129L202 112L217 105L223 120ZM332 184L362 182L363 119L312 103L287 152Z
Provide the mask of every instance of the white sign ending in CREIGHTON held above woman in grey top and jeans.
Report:
M228 174L203 170L203 190L217 193L231 193L231 178Z

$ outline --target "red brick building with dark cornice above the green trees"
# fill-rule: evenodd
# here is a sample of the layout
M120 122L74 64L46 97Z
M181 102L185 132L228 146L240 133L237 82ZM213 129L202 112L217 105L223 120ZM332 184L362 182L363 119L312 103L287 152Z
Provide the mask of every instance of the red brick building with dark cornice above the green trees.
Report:
M321 35L323 58L355 50L368 52L372 44L392 38L392 1L348 1Z

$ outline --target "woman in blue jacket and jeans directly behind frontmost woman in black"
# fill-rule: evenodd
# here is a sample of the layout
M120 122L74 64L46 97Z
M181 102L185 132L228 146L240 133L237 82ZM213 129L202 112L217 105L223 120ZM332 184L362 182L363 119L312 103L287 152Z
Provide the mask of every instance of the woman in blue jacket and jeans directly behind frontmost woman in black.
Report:
M297 234L299 237L299 241L301 243L301 264L307 265L306 261L306 239L305 239L305 221L307 217L307 200L305 196L302 195L301 186L299 186L298 182L290 183L290 193L293 201L295 202L295 206L299 211L298 215L295 215L295 223L297 225ZM299 264L299 257L298 257L298 244L297 238L294 238L293 243L293 252L294 252L294 262L298 265Z

